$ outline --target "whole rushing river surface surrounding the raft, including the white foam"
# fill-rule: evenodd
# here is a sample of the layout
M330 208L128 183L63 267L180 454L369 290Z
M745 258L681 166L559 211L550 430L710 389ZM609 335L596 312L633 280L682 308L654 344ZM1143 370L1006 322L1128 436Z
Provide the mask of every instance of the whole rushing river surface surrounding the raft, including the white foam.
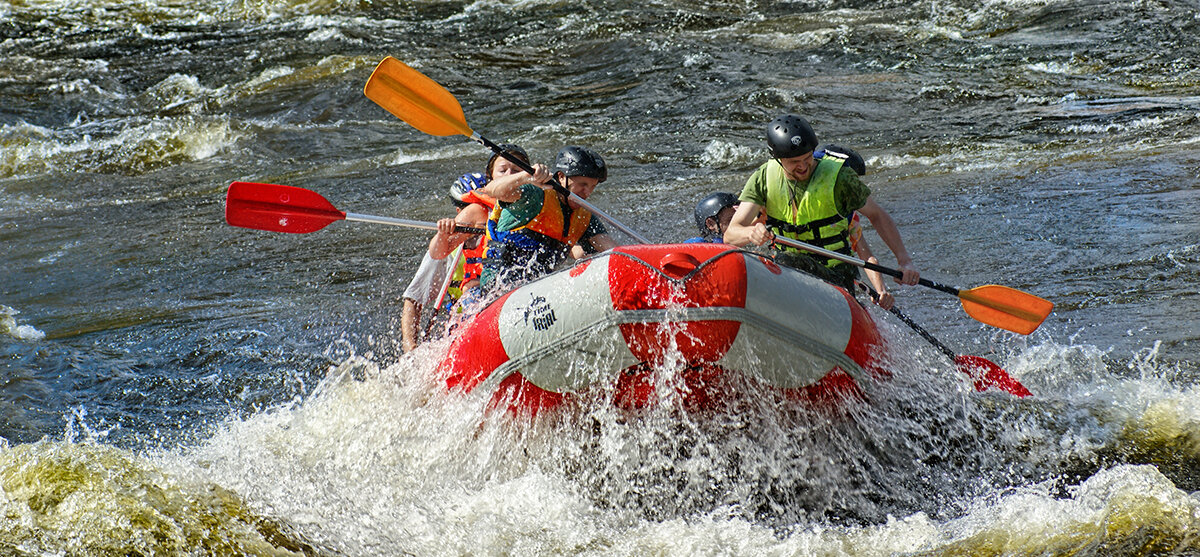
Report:
M0 552L1200 553L1196 36L1182 0L5 1ZM836 415L484 418L398 347L427 233L223 221L234 180L450 214L488 152L365 98L385 55L535 160L596 148L655 241L804 114L923 276L1056 304L1021 337L895 288L1034 396L876 309L893 381Z

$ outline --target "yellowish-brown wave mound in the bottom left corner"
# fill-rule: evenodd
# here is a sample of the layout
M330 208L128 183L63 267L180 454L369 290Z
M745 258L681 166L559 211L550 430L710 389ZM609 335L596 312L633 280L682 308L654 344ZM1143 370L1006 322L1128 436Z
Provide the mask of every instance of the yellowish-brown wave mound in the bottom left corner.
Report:
M235 493L84 442L0 443L0 547L18 553L306 555Z

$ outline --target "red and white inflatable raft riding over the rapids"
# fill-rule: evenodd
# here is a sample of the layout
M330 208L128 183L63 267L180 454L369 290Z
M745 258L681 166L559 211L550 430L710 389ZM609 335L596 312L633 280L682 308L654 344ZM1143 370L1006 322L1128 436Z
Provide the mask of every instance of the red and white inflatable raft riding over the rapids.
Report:
M738 372L790 397L857 394L878 373L878 330L842 288L721 244L624 246L524 285L455 331L448 387L536 413L596 385L655 403L654 370L680 371L694 406Z

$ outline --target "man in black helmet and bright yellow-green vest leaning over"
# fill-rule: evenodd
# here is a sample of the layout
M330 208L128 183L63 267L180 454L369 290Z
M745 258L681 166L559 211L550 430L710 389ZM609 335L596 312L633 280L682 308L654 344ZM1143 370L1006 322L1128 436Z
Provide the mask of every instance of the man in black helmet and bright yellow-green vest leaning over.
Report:
M916 285L920 275L900 239L895 221L871 197L871 190L845 164L846 157L827 152L812 157L817 136L808 120L784 114L767 125L772 160L746 180L740 204L725 230L725 242L736 246L769 245L775 234L826 250L853 256L850 216L858 211L875 227L896 256L902 285ZM766 214L766 222L760 215ZM811 272L848 291L858 266L785 247L776 258L782 264Z

